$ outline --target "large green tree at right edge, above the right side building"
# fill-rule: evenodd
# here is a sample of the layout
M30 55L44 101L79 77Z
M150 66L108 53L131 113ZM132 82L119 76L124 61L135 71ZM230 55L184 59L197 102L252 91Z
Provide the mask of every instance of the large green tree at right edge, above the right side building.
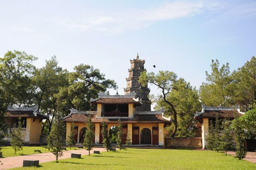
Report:
M235 80L234 100L245 111L256 104L256 57L252 57L241 68L233 72Z

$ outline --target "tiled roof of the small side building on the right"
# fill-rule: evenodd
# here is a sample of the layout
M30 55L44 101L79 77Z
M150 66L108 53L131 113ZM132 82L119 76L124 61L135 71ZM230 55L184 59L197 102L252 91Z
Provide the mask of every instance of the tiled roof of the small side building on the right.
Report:
M238 107L206 107L204 106L200 113L196 113L195 118L234 118L236 116L243 115L244 113L240 111Z

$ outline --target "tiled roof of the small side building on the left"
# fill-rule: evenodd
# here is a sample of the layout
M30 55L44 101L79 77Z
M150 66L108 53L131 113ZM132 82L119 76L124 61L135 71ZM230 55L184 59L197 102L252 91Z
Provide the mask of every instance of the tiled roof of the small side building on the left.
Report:
M48 116L41 114L38 107L30 108L11 108L9 107L4 114L5 117L37 117L40 119L49 119Z

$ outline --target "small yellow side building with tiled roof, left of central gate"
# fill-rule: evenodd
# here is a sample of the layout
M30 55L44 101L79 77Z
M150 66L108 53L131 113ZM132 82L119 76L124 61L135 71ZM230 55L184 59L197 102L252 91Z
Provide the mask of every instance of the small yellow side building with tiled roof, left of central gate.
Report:
M5 121L8 122L8 133L11 132L14 125L18 124L18 118L22 122L22 135L26 144L39 144L42 130L42 120L49 119L48 116L41 114L38 106L30 108L12 108L8 107L4 114ZM6 139L7 141L10 140Z

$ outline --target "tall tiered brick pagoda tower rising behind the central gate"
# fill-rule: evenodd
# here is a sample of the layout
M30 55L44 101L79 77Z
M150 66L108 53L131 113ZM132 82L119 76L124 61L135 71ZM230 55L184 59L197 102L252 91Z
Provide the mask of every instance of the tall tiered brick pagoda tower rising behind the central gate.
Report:
M131 68L128 69L129 77L126 78L127 86L124 89L125 94L130 94L132 92L136 93L136 97L139 97L142 100L142 105L136 107L136 111L151 111L151 103L148 99L149 88L148 86L143 87L139 83L140 74L143 71L146 71L144 68L145 59L139 59L137 54L136 59L130 59Z

